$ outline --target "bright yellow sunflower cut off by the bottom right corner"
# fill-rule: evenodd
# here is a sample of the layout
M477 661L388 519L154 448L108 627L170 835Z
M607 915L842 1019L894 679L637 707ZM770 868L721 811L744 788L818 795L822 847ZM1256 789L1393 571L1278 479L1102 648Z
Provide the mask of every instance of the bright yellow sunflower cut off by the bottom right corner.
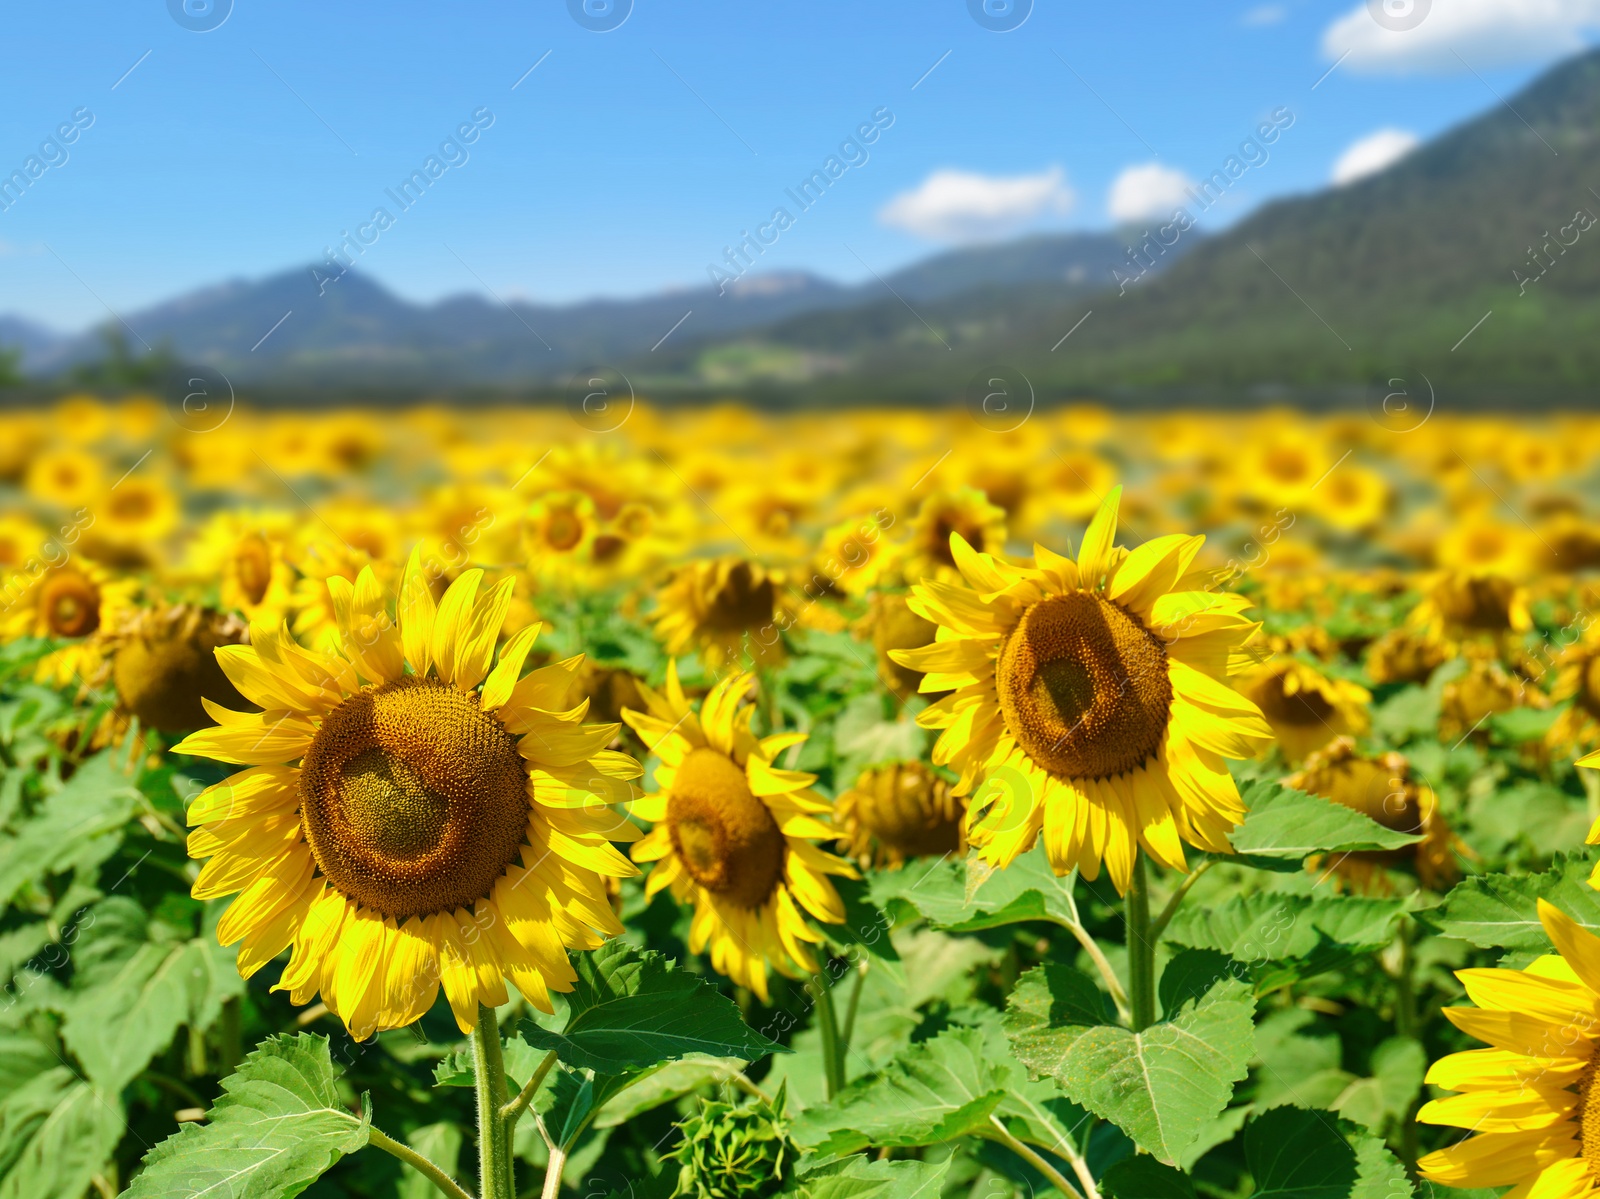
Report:
M1490 1049L1427 1071L1427 1082L1461 1093L1426 1103L1416 1119L1477 1133L1418 1161L1430 1183L1515 1186L1517 1199L1600 1193L1600 938L1544 900L1539 922L1557 952L1526 970L1456 972L1475 1007L1445 1017Z

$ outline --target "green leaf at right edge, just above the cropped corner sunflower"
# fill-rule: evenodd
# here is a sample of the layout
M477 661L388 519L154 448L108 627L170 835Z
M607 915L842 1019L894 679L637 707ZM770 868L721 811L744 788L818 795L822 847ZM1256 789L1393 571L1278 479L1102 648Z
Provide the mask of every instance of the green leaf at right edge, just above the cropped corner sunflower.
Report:
M1589 887L1594 863L1558 858L1541 874L1480 874L1451 888L1437 908L1418 920L1442 936L1456 936L1483 949L1550 952L1539 924L1539 900L1549 900L1590 932L1600 932L1600 892Z

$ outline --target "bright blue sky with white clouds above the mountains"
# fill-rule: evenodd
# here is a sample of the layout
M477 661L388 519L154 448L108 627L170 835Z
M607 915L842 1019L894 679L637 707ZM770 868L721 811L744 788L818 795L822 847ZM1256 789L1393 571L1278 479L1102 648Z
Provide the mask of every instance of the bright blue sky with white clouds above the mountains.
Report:
M1293 128L1214 227L1590 40L1587 0L1538 27L1518 0L1437 3L1387 32L1362 0L1037 0L1003 34L968 0L635 0L611 32L565 0L237 0L210 32L166 0L13 5L0 174L74 112L93 125L0 211L0 311L80 328L309 264L378 207L395 219L358 266L413 299L693 287L779 205L797 219L758 269L861 280L952 240L1109 227L1123 171L1142 168L1125 210L1160 202L1163 179L1210 173L1286 107ZM466 162L400 211L386 189L459 158L440 144L480 109L493 125ZM784 189L878 110L893 125L867 160L798 213Z

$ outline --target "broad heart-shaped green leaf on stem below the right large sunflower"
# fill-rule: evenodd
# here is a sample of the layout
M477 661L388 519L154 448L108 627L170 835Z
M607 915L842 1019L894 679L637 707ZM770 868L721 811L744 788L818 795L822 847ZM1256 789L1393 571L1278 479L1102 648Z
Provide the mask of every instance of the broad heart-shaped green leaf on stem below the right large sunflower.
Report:
M1227 1106L1254 1047L1250 988L1226 978L1176 1020L1142 1033L1048 1018L1074 1001L1042 997L1059 970L1030 970L1013 992L1006 1034L1029 1071L1054 1079L1075 1103L1107 1119L1173 1165L1200 1129Z

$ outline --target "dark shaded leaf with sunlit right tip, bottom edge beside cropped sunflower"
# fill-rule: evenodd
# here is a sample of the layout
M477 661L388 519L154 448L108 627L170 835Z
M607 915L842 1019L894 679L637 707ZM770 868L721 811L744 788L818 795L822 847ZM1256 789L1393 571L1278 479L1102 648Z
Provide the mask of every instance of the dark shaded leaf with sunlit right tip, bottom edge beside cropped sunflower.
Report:
M1376 1137L1346 1138L1341 1121L1274 1108L1245 1125L1251 1199L1414 1199L1405 1170Z

